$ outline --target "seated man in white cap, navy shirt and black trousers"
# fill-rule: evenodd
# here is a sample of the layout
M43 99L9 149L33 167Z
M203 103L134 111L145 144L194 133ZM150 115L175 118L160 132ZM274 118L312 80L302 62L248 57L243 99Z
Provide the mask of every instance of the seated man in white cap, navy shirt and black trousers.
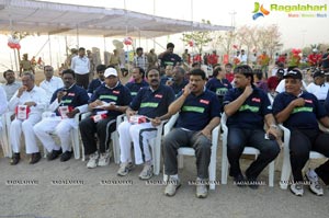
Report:
M116 128L116 117L126 111L132 101L129 90L120 83L114 68L107 68L104 77L105 83L89 100L92 115L79 124L84 154L89 156L87 168L109 165L111 133ZM98 136L99 149L94 134Z

